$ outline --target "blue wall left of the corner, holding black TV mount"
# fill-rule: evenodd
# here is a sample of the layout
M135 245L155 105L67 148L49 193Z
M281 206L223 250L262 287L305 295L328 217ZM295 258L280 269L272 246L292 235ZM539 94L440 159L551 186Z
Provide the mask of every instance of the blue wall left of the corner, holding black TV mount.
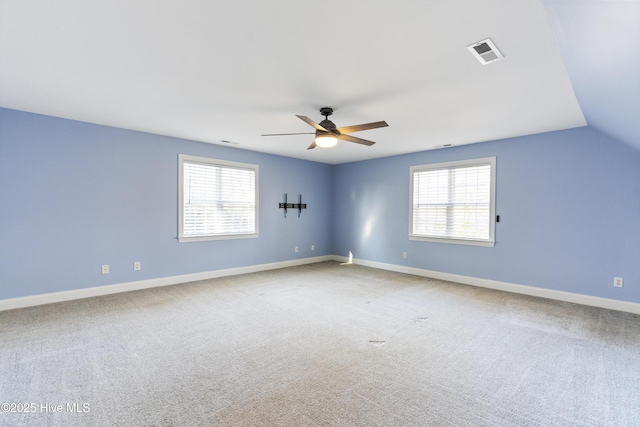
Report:
M259 238L178 243L179 153L259 165ZM331 176L321 163L0 109L0 299L328 255ZM303 195L300 218L278 209L284 193Z

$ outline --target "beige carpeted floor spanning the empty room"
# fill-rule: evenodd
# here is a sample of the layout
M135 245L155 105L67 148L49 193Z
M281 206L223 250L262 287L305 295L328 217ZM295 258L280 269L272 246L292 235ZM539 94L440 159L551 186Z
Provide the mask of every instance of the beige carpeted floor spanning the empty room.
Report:
M640 316L326 262L0 312L0 378L2 426L640 426Z

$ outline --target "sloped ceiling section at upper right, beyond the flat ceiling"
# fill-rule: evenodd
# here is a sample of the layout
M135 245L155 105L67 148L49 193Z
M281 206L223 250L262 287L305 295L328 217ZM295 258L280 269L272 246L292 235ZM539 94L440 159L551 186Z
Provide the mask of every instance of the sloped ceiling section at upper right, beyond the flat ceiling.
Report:
M587 123L640 150L640 1L544 5Z

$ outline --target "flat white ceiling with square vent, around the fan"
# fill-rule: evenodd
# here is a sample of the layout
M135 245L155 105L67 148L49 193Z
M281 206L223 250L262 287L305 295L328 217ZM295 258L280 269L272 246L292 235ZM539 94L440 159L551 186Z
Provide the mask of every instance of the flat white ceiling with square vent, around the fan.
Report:
M0 0L0 106L329 164L586 125L538 0ZM260 136L323 106L389 127Z

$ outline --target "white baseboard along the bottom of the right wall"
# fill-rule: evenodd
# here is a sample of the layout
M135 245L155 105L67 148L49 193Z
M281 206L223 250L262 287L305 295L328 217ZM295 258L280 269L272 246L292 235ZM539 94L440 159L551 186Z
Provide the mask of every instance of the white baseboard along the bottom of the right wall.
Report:
M349 262L349 258L333 256L331 259L340 262ZM386 264L375 261L353 259L353 264L364 265L366 267L379 268L381 270L396 271L399 273L413 274L414 276L429 277L432 279L446 280L450 282L462 283L465 285L478 286L499 291L513 292L516 294L529 295L540 298L548 298L557 301L572 302L576 304L588 305L592 307L606 308L609 310L624 311L628 313L640 314L640 304L634 302L620 301L609 298L594 297L572 292L556 291L553 289L537 288L535 286L516 285L513 283L500 282L497 280L480 279L477 277L462 276L459 274L442 273L439 271L424 270L421 268L405 267L395 264Z

